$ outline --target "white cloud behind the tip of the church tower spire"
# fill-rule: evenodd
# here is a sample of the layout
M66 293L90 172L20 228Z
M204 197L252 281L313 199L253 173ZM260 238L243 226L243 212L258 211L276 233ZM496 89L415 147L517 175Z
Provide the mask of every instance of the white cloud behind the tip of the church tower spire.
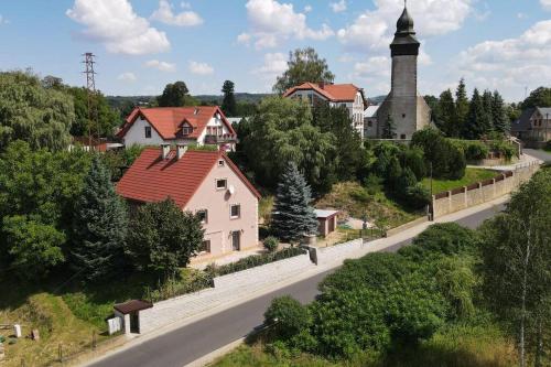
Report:
M474 0L417 0L408 4L420 36L435 36L458 30L473 11ZM354 23L338 30L341 42L353 50L387 48L396 32L401 1L375 0L376 9L360 14Z

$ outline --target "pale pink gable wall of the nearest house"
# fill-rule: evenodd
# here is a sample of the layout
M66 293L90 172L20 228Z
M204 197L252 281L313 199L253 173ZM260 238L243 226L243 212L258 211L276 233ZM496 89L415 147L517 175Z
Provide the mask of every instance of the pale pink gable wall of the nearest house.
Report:
M226 188L216 188L217 180L226 180ZM234 193L229 193L229 187ZM239 205L239 217L231 217L231 206ZM224 161L218 163L208 173L203 184L193 195L184 211L197 213L207 211L207 220L204 224L205 240L210 241L210 251L201 253L194 261L220 257L234 251L233 231L240 233L240 250L259 246L258 239L258 198L249 187Z

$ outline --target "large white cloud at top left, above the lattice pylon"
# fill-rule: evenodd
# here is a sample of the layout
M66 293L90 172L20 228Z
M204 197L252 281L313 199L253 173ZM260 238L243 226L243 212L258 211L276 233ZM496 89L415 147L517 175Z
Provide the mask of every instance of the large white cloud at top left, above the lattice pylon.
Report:
M166 34L136 14L128 0L75 0L66 14L86 26L85 37L111 53L143 55L170 48Z

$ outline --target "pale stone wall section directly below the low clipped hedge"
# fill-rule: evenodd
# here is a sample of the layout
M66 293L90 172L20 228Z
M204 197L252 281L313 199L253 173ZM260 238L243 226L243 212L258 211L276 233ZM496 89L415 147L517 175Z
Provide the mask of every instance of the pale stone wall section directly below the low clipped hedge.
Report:
M312 267L310 256L299 255L289 259L270 262L260 267L216 277L214 288L241 287L242 284L271 283L289 278Z

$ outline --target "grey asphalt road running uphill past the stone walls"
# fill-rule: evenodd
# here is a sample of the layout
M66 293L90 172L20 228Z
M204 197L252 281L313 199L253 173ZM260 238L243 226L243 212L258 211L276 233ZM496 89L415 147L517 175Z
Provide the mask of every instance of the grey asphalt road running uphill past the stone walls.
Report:
M461 220L458 224L476 228L485 219L504 208L503 205L489 208ZM397 251L411 240L399 242L387 251ZM331 271L294 283L276 292L262 295L218 314L199 320L170 333L163 334L141 345L115 354L94 367L182 367L210 352L214 352L258 327L263 312L276 296L290 294L303 303L311 302L317 294L317 283Z

